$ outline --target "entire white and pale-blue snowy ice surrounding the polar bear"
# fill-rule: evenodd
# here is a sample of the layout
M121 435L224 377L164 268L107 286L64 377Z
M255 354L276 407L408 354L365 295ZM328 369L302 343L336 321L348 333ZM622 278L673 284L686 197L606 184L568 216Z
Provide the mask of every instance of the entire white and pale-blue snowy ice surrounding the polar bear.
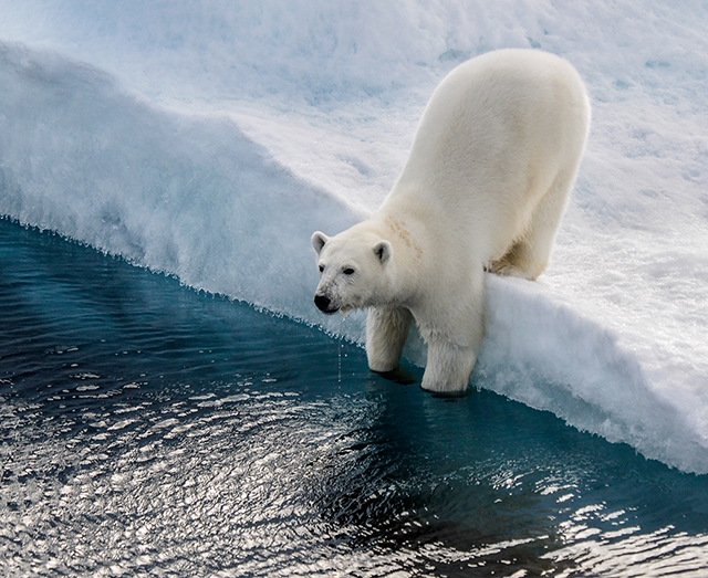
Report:
M701 2L0 0L0 214L336 333L310 234L375 210L436 84L508 46L569 59L593 126L549 271L488 279L475 382L706 473Z

